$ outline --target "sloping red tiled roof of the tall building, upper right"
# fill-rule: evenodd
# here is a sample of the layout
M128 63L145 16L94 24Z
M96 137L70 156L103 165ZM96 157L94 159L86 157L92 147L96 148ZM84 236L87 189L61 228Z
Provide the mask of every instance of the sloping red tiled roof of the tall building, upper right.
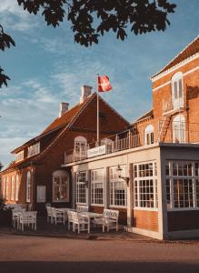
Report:
M169 68L176 66L177 64L183 62L185 59L189 58L190 56L194 56L194 54L199 52L199 35L192 41L189 45L187 45L183 51L181 51L174 59L164 66L164 68L155 74L154 76L158 76L159 74L163 73L164 71L168 70ZM154 77L152 76L152 78Z

